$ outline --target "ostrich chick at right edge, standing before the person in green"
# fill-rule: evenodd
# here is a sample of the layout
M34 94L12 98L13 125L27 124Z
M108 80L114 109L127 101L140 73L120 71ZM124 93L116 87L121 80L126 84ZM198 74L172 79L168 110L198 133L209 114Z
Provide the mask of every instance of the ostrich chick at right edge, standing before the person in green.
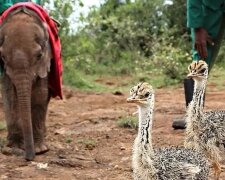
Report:
M224 153L225 111L203 112L203 102L208 65L205 61L194 61L189 67L188 77L194 80L194 94L186 113L185 147L205 154L213 163L215 179L221 173L220 154Z

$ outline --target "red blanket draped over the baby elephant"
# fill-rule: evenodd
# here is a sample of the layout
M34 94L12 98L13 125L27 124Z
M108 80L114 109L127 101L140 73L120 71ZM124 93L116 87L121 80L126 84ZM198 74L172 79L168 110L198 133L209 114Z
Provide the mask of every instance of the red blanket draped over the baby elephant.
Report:
M52 46L52 52L53 52L53 63L51 65L51 70L49 74L49 87L52 90L52 96L56 97L59 96L62 99L62 57L61 57L61 43L60 38L58 36L58 29L56 27L55 22L49 17L48 13L38 4L32 3L32 2L22 2L17 3L10 8L8 8L1 16L0 18L0 24L3 22L3 20L7 17L7 15L20 7L26 7L34 12L36 12L37 15L48 24L48 33L50 37L50 42Z

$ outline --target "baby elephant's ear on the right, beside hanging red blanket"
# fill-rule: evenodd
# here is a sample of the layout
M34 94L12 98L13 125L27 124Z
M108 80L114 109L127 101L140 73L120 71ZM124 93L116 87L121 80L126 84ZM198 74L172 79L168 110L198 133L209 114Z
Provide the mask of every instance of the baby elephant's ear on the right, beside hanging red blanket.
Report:
M47 31L47 25L43 23L43 28L45 32L45 40L40 41L37 39L37 42L42 48L42 52L38 55L38 63L36 64L36 74L41 77L47 77L48 72L50 71L51 59L53 58L51 45L49 42L49 35Z

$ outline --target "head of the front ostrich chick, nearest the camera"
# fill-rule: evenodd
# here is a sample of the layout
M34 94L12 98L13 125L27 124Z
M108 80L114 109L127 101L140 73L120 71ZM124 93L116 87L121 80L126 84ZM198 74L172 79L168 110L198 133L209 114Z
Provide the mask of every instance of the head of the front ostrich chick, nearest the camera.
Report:
M139 106L146 106L151 103L154 94L153 88L146 82L138 83L130 89L130 97L127 98L128 103L135 103Z

